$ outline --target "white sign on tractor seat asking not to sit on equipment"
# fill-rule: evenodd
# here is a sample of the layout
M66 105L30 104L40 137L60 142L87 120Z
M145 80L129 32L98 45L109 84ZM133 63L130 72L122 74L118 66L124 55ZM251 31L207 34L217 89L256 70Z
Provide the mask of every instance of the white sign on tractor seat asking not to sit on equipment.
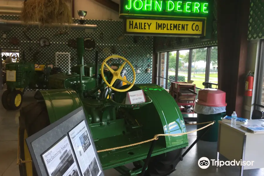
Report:
M146 98L143 90L136 90L126 93L126 104L145 103Z

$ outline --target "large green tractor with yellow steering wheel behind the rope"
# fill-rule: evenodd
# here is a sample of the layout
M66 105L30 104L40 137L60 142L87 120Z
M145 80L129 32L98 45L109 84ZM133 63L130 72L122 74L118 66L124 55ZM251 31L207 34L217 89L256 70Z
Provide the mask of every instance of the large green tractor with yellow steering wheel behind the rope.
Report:
M98 73L98 53L95 75L85 76L83 69L83 38L77 38L79 74L50 75L48 82L54 88L40 91L38 102L23 107L19 117L19 169L21 176L36 176L25 139L54 123L63 116L82 106L86 115L97 150L104 150L153 138L156 134L185 133L185 123L179 107L172 96L156 84L134 84L136 73L131 63L121 56L107 57L101 65L101 78ZM118 57L124 63L115 71L106 62ZM133 71L133 81L124 79L120 73L125 64ZM105 69L106 67L106 69ZM113 75L111 78L107 75ZM109 78L107 80L107 78ZM117 80L127 85L115 88ZM109 90L106 96L105 87ZM110 90L111 89L111 90ZM100 91L100 90L103 90ZM125 104L126 93L143 90L146 102ZM114 93L113 98L112 94ZM138 175L147 165L144 175L165 176L175 170L182 160L182 150L188 145L187 135L164 136L155 141L127 148L98 153L104 170L114 168L121 175ZM146 159L152 146L150 160ZM124 165L133 163L132 170Z

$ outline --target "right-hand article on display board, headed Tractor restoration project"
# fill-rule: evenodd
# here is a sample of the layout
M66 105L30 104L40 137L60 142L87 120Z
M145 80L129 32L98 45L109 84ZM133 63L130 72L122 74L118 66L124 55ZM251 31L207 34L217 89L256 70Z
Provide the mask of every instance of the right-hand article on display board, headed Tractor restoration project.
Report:
M85 121L79 123L72 131L69 132L73 150L79 163L82 176L99 176L101 169L95 157L94 148L91 144Z

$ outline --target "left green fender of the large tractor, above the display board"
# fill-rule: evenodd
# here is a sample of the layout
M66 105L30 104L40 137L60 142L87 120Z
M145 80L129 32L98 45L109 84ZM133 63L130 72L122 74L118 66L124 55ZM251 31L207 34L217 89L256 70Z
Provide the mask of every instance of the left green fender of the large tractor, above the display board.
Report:
M44 98L50 123L82 106L79 95L72 89L41 90L40 93Z

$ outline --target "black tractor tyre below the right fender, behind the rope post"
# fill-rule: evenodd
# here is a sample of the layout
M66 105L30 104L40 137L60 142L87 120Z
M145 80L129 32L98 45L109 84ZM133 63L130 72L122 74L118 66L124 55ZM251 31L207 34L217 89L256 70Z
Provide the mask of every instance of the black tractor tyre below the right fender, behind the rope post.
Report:
M146 176L166 176L176 170L176 165L182 160L183 148L151 157Z

